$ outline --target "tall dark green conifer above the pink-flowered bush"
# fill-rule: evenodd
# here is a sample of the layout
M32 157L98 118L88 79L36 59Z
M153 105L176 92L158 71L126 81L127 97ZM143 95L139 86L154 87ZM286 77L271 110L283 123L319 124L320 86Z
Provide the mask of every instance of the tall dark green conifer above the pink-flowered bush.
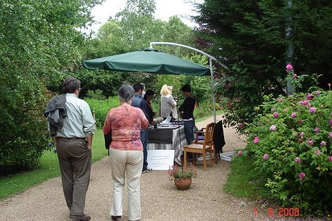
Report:
M205 0L196 6L196 44L229 67L218 70L219 93L229 98L225 122L250 122L263 95L284 94L287 62L297 75L322 74L323 88L331 81L331 1ZM295 49L288 59L290 44Z

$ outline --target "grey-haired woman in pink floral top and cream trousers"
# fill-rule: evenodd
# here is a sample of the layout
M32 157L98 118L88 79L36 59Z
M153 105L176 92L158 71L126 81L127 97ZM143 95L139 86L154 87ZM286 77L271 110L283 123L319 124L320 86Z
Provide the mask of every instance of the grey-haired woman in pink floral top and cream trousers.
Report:
M120 106L112 108L104 122L104 135L111 131L109 146L113 180L113 204L111 219L122 216L122 193L124 177L127 174L128 218L140 220L140 175L143 165L143 146L140 142L140 129L147 128L149 122L140 108L131 106L135 91L124 84L118 90Z

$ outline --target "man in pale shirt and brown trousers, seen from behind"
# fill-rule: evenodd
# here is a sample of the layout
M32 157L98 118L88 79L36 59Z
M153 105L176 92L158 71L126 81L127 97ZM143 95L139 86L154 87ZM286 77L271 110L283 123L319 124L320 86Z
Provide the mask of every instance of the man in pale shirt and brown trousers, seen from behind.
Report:
M95 120L89 104L78 98L80 81L67 77L62 84L66 94L66 113L62 129L57 130L53 141L57 145L57 157L62 175L64 198L70 210L70 218L90 220L84 214L86 191L91 172L91 144Z

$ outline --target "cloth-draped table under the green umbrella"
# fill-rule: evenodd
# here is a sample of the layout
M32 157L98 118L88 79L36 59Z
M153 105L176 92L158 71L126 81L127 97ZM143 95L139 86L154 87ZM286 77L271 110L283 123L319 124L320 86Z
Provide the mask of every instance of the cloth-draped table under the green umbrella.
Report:
M159 126L149 128L147 150L174 150L174 161L181 165L183 146L187 144L183 125ZM181 142L181 145L180 145ZM149 154L147 156L149 158Z

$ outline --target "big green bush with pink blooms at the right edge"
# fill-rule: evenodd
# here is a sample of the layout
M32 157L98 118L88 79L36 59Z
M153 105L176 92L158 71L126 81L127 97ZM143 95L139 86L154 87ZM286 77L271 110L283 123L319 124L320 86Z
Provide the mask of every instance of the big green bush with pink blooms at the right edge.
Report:
M261 188L284 207L332 206L332 91L266 99L260 110L246 126L248 145L242 151L254 162L255 175L265 177Z

